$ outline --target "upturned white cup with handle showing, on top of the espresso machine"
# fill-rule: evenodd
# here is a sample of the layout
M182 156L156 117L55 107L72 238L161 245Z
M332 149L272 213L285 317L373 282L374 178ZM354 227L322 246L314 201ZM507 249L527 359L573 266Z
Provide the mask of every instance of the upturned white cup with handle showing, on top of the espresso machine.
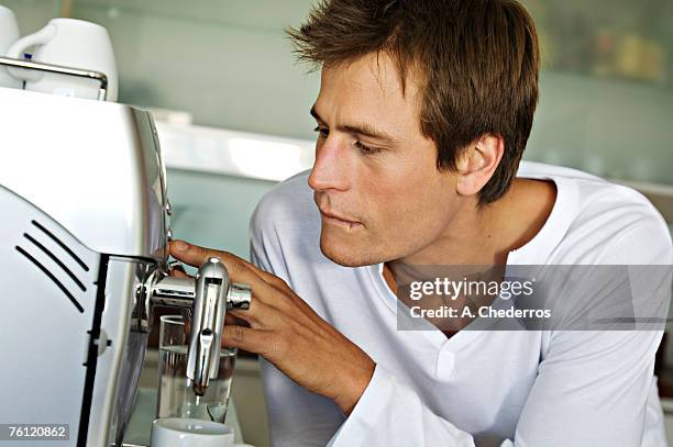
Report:
M75 19L52 19L42 30L15 42L8 57L20 58L35 46L33 62L102 72L108 77L108 101L117 101L117 64L108 31L91 22ZM100 82L59 74L12 69L12 75L26 81L25 89L66 97L98 99Z

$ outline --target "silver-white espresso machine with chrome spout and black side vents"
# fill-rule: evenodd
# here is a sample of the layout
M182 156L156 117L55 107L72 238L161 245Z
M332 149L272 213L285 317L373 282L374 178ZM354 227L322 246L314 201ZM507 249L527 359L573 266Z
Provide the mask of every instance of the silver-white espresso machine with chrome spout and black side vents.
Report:
M100 74L0 65L98 79L104 99ZM196 278L169 276L172 210L148 112L0 88L0 424L66 428L21 445L121 446L154 306L191 320L187 378L202 393L225 312L247 309L251 290L218 258Z

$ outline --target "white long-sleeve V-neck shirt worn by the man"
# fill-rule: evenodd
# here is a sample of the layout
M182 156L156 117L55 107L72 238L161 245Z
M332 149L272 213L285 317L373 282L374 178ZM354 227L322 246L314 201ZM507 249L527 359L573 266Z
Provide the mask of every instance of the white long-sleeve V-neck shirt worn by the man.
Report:
M341 267L319 247L308 172L271 191L252 259L376 362L346 418L262 360L275 447L665 446L653 362L660 331L398 331L383 265ZM668 228L639 193L573 169L522 163L556 201L508 265L672 265ZM670 287L669 287L670 290Z

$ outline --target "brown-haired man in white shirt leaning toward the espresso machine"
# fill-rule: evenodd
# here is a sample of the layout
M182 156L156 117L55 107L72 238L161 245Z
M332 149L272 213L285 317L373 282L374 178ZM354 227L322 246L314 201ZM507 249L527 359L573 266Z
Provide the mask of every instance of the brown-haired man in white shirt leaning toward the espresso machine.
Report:
M258 353L274 446L665 445L661 331L398 331L396 265L672 262L647 200L519 167L538 99L512 0L332 0L290 31L321 68L310 172L267 194L223 344ZM670 289L669 289L670 290Z

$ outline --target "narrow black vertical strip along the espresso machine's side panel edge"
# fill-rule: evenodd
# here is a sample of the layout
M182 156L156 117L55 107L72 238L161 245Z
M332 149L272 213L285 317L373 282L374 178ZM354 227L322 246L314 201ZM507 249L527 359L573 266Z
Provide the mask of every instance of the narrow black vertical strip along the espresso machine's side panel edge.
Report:
M100 338L100 322L106 309L106 281L108 279L109 255L100 255L100 267L98 268L98 279L95 282L98 287L96 291L96 306L93 308L93 321L89 334L89 351L87 354L87 376L85 379L84 395L81 398L81 413L79 415L79 432L77 434L77 446L87 446L87 434L89 432L89 416L91 415L91 401L93 400L93 382L96 379L96 366L98 364L98 345ZM104 436L108 436L106 434ZM107 438L106 438L107 442Z

